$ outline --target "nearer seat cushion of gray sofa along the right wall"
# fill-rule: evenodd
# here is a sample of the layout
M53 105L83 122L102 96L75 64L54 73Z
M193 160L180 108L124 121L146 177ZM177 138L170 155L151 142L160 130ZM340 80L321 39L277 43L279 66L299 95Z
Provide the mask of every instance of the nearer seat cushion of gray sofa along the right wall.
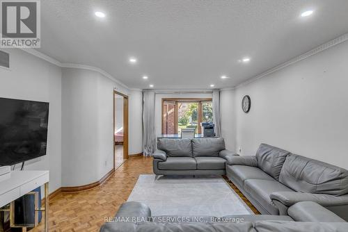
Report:
M294 192L276 180L256 180L249 179L244 181L244 190L248 192L255 201L264 207L271 215L278 215L279 210L269 197L272 192L288 191Z

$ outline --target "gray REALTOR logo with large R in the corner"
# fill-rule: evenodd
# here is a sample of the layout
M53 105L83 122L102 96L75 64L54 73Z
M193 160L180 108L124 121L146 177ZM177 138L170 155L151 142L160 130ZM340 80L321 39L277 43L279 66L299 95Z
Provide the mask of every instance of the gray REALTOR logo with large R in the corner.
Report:
M0 1L0 47L40 47L40 0Z

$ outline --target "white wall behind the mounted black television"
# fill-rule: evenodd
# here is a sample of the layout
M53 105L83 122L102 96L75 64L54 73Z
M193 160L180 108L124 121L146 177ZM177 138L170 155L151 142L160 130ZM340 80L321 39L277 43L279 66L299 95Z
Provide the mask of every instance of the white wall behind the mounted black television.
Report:
M10 53L10 69L0 67L0 97L49 102L47 156L24 169L49 170L49 192L61 187L61 68L19 49Z

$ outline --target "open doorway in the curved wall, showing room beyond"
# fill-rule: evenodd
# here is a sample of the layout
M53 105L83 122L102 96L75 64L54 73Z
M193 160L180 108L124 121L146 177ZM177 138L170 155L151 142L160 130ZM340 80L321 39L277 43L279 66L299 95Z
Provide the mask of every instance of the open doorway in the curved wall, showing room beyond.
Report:
M113 167L117 169L128 158L128 97L113 92Z

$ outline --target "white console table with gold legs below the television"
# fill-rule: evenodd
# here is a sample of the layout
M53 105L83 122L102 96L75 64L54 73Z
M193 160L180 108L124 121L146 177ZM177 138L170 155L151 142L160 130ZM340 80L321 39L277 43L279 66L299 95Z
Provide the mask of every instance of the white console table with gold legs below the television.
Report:
M0 181L0 208L11 204L10 224L14 226L13 201L25 194L31 193L32 190L45 185L45 207L35 208L35 212L42 211L45 213L45 232L48 231L48 191L49 191L49 171L13 171L8 179ZM41 199L39 199L41 200ZM20 226L22 227L22 226ZM24 229L25 231L26 229ZM22 230L23 231L23 230Z

